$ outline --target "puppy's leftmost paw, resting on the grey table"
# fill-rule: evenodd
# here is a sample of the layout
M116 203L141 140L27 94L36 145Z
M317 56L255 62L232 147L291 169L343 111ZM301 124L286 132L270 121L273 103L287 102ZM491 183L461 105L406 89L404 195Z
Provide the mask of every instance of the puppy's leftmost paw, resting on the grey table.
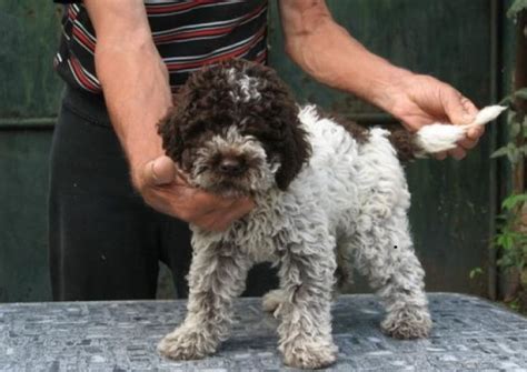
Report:
M216 346L217 343L205 332L179 328L159 342L158 351L173 360L195 360L213 353Z

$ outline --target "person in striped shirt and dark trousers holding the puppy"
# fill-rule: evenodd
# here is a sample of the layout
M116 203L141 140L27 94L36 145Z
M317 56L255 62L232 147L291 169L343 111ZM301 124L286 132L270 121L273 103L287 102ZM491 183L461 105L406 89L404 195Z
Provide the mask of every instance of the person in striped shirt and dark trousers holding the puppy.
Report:
M266 62L267 1L54 2L70 4L56 57L67 88L51 150L53 299L155 298L159 261L186 296L187 222L225 230L253 204L191 188L163 155L156 125L190 72L230 58ZM466 124L477 112L449 84L370 53L334 21L324 0L280 0L279 7L294 62L408 130L435 121ZM463 158L481 134L483 127L470 130L449 154ZM274 286L275 274L260 267L246 294Z

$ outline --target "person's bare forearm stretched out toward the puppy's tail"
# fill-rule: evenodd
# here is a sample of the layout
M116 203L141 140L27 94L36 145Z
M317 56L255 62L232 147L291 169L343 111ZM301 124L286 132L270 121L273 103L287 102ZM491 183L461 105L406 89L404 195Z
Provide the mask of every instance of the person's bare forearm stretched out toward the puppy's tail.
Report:
M288 56L316 80L391 111L387 88L411 72L369 52L334 21L324 1L312 3L290 11L298 8L295 0L280 1Z

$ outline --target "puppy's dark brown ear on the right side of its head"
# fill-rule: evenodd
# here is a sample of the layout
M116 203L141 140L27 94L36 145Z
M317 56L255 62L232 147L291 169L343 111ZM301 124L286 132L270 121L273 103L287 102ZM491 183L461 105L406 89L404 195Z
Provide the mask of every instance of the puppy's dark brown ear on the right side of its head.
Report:
M300 121L296 114L297 109L292 109L294 113L289 113L288 122L284 123L285 138L281 144L280 168L275 179L280 190L286 191L291 181L300 172L302 165L311 154L311 147L307 140L307 133L301 128Z

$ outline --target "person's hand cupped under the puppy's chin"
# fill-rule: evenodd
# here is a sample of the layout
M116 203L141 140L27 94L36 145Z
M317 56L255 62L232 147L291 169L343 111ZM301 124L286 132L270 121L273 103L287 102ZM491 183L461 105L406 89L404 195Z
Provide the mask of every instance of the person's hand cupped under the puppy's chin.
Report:
M168 157L132 169L132 181L153 209L210 231L223 231L252 210L249 198L227 199L189 185Z

